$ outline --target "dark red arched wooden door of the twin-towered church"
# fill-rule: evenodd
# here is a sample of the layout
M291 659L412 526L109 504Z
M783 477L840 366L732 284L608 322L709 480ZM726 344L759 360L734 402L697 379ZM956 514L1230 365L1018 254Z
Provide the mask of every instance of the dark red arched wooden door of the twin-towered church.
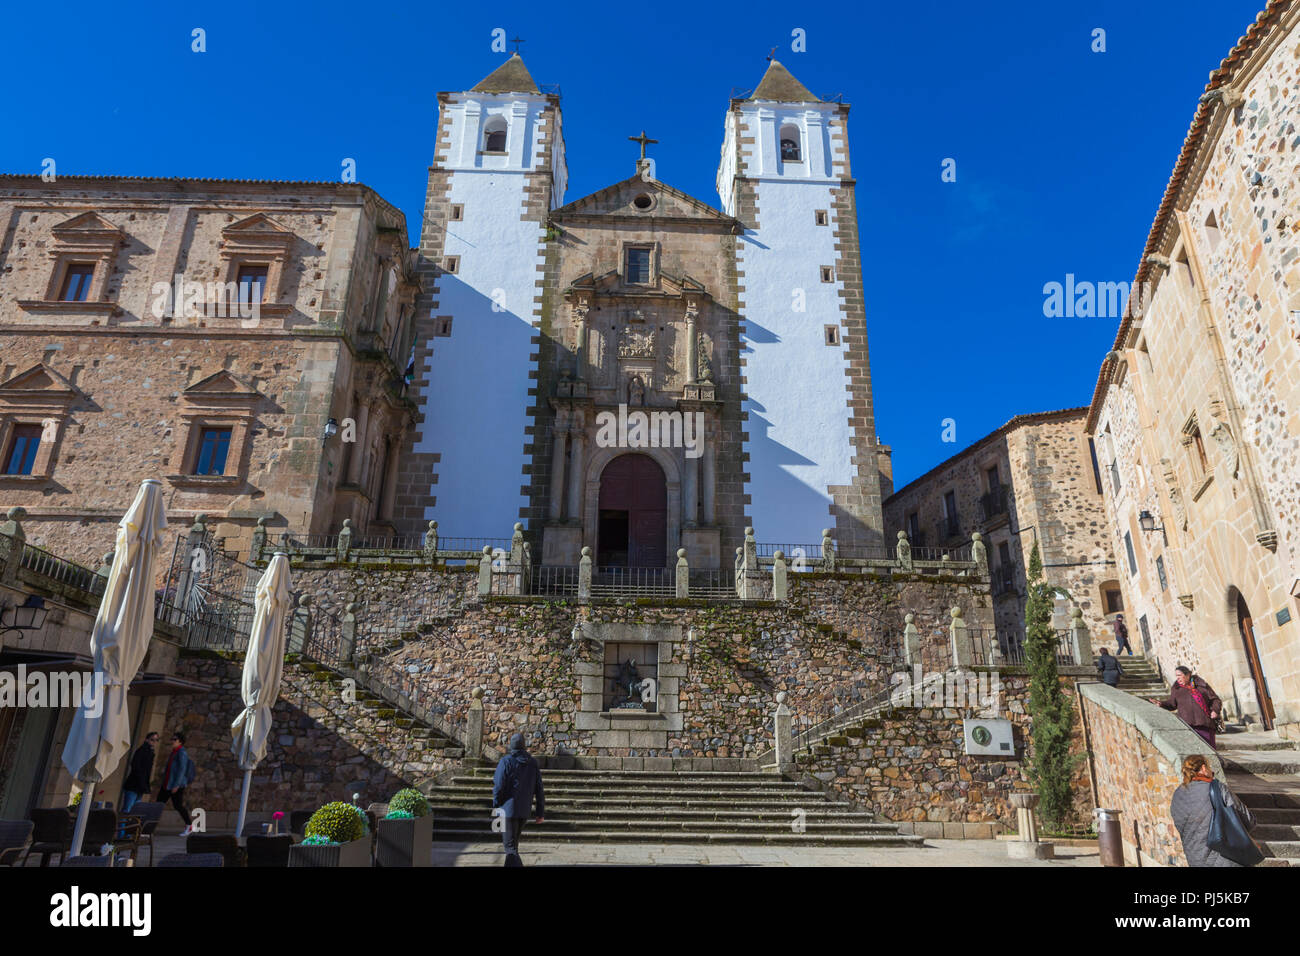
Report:
M666 567L668 484L647 455L619 455L601 472L597 563L604 567Z

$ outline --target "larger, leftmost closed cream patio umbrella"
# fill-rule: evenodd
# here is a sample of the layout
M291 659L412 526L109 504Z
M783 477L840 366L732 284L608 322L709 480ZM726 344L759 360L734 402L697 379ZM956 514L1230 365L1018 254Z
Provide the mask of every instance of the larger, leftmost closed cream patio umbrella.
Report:
M153 574L165 529L162 484L147 479L118 522L113 564L90 635L94 679L101 689L73 717L64 747L64 766L82 783L73 856L81 853L95 784L107 779L131 748L126 689L153 637Z

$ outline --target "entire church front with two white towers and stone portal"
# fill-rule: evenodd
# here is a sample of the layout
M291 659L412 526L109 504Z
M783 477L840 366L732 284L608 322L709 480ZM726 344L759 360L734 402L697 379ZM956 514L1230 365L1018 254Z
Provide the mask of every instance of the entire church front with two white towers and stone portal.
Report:
M848 107L774 61L725 116L715 208L645 134L632 176L566 203L559 98L517 55L439 101L410 529L517 518L547 564L729 566L749 525L879 548Z

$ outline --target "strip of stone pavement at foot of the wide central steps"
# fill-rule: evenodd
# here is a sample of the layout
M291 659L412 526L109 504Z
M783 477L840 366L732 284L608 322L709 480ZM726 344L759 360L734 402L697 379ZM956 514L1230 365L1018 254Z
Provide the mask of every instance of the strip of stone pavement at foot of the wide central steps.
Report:
M746 847L671 843L533 843L525 866L1100 866L1096 847L1057 847L1057 860L1010 860L1001 840L926 840L924 848ZM499 845L434 843L434 866L500 866Z

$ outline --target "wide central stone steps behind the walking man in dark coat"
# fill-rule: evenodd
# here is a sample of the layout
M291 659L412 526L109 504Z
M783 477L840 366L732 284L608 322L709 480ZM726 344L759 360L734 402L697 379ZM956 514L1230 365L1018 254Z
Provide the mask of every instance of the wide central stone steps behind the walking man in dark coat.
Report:
M546 819L529 826L530 839L924 845L923 838L900 834L893 823L879 823L852 804L770 773L543 770L542 780ZM434 840L500 839L491 830L490 770L465 771L425 792L433 804Z

